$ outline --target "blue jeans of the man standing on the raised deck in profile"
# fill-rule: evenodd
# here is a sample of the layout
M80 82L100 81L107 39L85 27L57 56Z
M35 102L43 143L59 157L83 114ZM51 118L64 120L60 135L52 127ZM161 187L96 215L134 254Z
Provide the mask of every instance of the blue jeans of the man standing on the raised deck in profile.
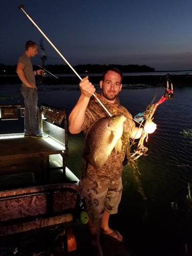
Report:
M25 134L34 134L39 135L39 126L38 126L38 118L37 118L37 101L38 101L38 94L37 91L22 86L20 91L24 97L24 104L25 104Z

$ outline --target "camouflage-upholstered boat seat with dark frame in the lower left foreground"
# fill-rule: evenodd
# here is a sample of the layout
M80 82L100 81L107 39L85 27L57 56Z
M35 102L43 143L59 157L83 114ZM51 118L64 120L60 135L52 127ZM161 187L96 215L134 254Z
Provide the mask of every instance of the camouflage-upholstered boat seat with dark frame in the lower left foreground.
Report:
M81 193L76 184L49 184L0 191L0 234L64 226L70 233L69 251L76 249L72 226L78 217ZM71 240L71 241L70 241Z

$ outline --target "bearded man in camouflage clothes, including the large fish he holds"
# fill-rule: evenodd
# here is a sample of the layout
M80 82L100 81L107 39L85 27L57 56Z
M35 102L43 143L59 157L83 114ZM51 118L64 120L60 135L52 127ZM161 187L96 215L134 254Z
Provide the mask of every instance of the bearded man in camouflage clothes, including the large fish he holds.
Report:
M111 116L93 97L95 87L88 76L79 83L81 94L69 115L70 133L83 131L85 134L79 186L86 201L88 227L96 256L103 255L100 233L123 242L121 234L109 227L109 217L117 213L121 200L122 163L129 138L139 139L143 131L135 126L132 115L120 105L117 96L122 89L122 78L120 70L111 68L103 73L100 81L101 95L96 97Z

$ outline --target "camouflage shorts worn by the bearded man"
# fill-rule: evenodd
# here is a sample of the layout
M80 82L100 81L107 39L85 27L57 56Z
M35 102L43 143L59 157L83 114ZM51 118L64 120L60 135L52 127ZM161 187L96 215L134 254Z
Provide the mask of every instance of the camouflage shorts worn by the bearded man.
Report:
M94 224L99 223L104 211L116 214L122 195L122 180L101 182L91 179L79 181L79 187L86 201L86 210Z

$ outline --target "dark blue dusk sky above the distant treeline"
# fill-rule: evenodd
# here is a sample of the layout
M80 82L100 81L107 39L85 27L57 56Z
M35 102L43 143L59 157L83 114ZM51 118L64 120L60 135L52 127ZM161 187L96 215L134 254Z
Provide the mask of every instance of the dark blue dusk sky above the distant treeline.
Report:
M2 0L0 63L15 65L25 42L43 38L31 16L72 66L146 65L156 71L192 70L191 0ZM44 38L48 64L66 62Z

